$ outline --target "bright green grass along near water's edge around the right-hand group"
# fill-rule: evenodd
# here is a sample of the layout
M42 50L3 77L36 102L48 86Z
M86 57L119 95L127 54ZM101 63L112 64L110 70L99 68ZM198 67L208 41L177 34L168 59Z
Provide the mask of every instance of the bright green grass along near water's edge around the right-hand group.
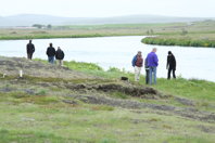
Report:
M115 67L111 67L109 70L104 72L97 64L75 61L65 62L65 66L69 69L103 77L111 80L121 79L122 76L125 76L129 78L130 82L137 83L134 80L135 75L132 73L121 70ZM141 80L138 82L138 84L144 84L144 76L141 76ZM189 98L193 100L215 102L215 83L211 81L197 79L187 80L181 77L178 77L176 80L166 80L164 78L159 78L157 84L153 86L153 88L168 94Z

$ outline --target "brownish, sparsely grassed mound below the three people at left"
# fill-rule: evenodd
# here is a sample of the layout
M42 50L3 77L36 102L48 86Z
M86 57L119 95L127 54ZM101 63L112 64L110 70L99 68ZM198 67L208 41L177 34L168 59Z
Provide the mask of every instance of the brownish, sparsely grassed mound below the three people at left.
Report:
M96 77L71 70L67 67L45 64L38 61L29 61L24 57L0 56L0 73L9 76L17 76L20 70L24 75L33 77L51 77L63 79L92 79Z

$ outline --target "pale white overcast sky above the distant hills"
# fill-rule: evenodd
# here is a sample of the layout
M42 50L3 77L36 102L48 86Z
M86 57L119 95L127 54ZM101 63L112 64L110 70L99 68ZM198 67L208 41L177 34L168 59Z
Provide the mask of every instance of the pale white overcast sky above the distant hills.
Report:
M0 0L0 16L48 14L108 17L132 14L215 17L215 0Z

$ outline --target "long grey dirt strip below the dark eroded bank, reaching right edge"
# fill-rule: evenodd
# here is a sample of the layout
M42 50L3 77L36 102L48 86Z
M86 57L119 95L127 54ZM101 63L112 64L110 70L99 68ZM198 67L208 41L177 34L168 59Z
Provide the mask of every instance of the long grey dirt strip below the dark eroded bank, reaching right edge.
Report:
M140 108L151 108L162 112L168 112L174 115L178 115L181 117L201 120L201 121L208 121L208 122L215 122L215 114L208 113L208 112L199 112L194 108L182 108L182 107L175 107L175 106L168 106L168 105L156 105L156 104L148 104L148 103L141 103L130 100L116 100L116 99L110 99L105 96L90 96L90 95L68 95L72 99L76 99L79 101L83 101L85 103L89 104L102 104L102 105L110 105L110 106L116 106L116 107L123 107L123 108L132 108L132 109L140 109ZM67 103L71 101L68 100Z

